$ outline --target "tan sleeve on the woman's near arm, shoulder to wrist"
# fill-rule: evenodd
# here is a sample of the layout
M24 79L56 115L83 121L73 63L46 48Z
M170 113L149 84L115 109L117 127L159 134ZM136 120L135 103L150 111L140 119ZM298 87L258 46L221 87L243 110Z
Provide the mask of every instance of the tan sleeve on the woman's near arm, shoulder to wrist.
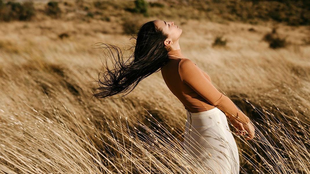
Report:
M210 104L222 110L228 116L228 119L233 117L244 125L250 122L249 117L241 112L232 100L219 92L190 59L184 58L181 60L179 74L183 83L190 86Z

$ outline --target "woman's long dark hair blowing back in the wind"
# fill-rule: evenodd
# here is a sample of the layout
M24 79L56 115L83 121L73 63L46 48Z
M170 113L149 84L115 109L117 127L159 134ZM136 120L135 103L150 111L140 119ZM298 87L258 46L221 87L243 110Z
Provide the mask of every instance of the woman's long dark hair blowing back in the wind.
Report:
M133 46L135 51L127 61L124 61L119 47L101 43L101 45L104 45L101 48L109 49L112 57L114 57L114 54L111 49L114 49L117 53L117 59L114 57L115 64L112 70L108 69L106 61L106 65L104 65L106 71L104 73L100 71L98 80L96 80L99 87L92 88L92 97L106 98L125 93L128 90L130 90L128 92L130 93L142 79L161 70L168 63L168 51L164 45L168 35L161 28L157 28L154 21L144 23L140 26L138 32L131 34L131 36L131 39L136 39L136 44ZM134 60L127 63L132 57L134 57ZM101 80L100 74L103 74L104 80ZM96 93L94 90L100 92Z

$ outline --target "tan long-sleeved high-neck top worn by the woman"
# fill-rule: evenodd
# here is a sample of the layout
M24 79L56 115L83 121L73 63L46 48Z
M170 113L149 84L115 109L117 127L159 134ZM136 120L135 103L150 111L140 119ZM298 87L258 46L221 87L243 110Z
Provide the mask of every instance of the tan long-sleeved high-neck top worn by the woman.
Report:
M162 77L185 109L197 113L217 107L229 119L235 117L243 124L250 121L226 95L213 86L208 74L183 56L181 49L169 51L168 57L170 61L161 69Z

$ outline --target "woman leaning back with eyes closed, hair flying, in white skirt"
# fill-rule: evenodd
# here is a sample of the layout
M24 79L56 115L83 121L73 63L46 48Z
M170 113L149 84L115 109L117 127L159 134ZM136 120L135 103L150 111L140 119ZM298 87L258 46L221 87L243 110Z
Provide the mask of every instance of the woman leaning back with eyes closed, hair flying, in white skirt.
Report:
M183 56L179 45L182 29L173 22L154 20L139 29L134 60L125 64L120 54L113 70L98 80L99 93L105 98L131 91L150 74L161 70L170 91L187 110L184 148L187 153L203 161L208 173L239 173L237 144L228 127L228 120L237 128L237 134L254 138L250 119L211 83L210 77L193 61ZM112 47L117 52L116 47ZM187 169L182 167L184 172Z

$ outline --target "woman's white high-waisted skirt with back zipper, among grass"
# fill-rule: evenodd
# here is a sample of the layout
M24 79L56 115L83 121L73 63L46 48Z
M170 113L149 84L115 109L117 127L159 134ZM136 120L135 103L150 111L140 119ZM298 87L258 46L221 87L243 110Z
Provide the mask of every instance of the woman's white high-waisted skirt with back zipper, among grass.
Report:
M184 150L185 154L202 161L198 165L202 166L201 172L197 173L239 174L238 147L229 130L226 115L219 108L198 113L187 110ZM190 158L185 156L185 160ZM181 168L184 173L194 172Z

